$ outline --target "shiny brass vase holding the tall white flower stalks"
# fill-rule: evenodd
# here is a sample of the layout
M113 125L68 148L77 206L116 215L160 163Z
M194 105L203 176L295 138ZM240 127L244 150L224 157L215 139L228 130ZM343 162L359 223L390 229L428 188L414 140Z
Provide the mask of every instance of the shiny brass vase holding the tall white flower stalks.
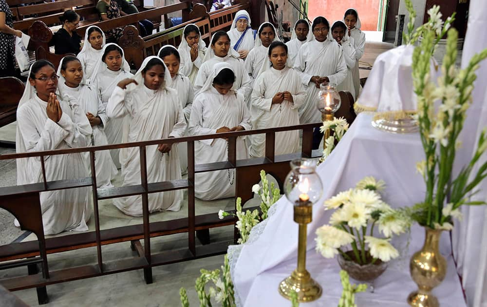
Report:
M425 227L425 243L412 255L409 269L418 290L408 296L408 304L414 307L438 307L438 299L431 290L441 284L447 274L447 261L440 254L439 241L442 230Z

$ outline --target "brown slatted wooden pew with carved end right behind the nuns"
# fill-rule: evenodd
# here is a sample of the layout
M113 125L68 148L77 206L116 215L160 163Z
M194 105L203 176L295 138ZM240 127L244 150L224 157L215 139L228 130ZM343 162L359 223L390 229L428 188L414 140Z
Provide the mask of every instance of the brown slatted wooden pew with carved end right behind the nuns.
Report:
M118 43L123 48L125 59L131 64L131 68L138 69L144 58L157 55L162 46L179 46L183 36L183 29L187 24L195 23L200 28L201 38L208 44L213 33L219 30L228 30L235 14L239 10L248 7L249 3L245 2L244 4L233 5L208 14L203 4L197 3L189 16L191 20L145 38L139 36L139 32L135 27L127 26ZM214 26L211 25L212 23Z

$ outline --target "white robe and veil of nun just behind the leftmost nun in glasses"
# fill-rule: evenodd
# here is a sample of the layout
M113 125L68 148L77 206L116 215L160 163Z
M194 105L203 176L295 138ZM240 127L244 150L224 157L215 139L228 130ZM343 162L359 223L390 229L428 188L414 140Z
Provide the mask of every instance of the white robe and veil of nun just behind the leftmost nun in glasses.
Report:
M92 126L92 134L89 135L89 143L92 146L108 145L107 136L105 135L105 127L107 126L108 116L105 112L105 106L101 102L98 93L93 85L87 84L85 75L81 83L73 88L65 84L65 78L61 75L61 66L65 58L62 58L59 62L57 69L57 76L59 76L59 82L57 84L58 96L63 100L77 100L77 104L86 113L91 113L95 117L99 117L101 120L100 125ZM87 161L88 173L91 173L90 165L90 153L85 153ZM96 170L96 186L98 188L112 188L112 179L115 178L118 171L112 161L110 151L97 151L95 152L95 170Z

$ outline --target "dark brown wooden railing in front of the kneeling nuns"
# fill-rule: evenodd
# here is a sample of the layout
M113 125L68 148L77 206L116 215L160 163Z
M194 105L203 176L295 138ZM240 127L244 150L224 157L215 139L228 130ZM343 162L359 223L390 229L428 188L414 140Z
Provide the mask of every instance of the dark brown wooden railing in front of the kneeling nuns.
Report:
M134 269L143 269L145 281L149 284L152 282L152 267L154 266L225 253L227 246L231 244L231 242L216 242L203 246L196 246L196 231L200 230L203 232L214 227L233 225L235 220L230 216L220 220L216 212L202 215L195 214L195 173L235 169L236 195L242 197L243 203L252 198L251 187L253 184L260 181L260 170L265 170L267 173L273 175L277 179L282 192L284 178L290 170L289 161L299 157L317 157L321 155L320 150L312 150L313 128L318 127L319 125L320 123L316 123L272 129L222 133L217 135L186 136L127 144L0 155L0 160L38 157L40 159L43 174L43 181L39 183L0 188L0 208L3 208L16 216L19 220L21 229L33 231L38 239L37 241L12 243L0 247L0 261L10 261L1 264L0 269L27 266L29 268L29 273L32 274L3 279L0 280L0 284L9 290L37 288L39 304L42 304L48 302L46 285ZM276 156L274 154L276 133L291 130L302 130L301 152ZM265 134L265 156L262 158L237 160L237 137L250 134ZM195 165L194 142L204 139L213 139L215 137L228 139L228 160ZM156 144L174 144L181 142L187 143L187 179L149 183L147 181L146 147ZM128 147L139 148L141 184L106 190L97 189L96 177L94 175L96 174L94 164L95 152ZM84 152L89 153L90 156L91 177L74 180L46 181L44 159L47 156ZM40 212L39 193L79 187L92 188L95 230L45 239L42 227L42 215ZM188 216L175 220L150 223L148 194L180 189L187 189ZM102 199L130 195L142 195L143 223L141 225L100 230L98 202ZM32 213L25 214L27 211ZM151 253L151 237L174 233L187 233L187 248L165 251L158 254ZM143 246L139 242L141 239L144 240ZM234 239L236 240L237 237ZM131 248L138 253L138 257L111 262L103 261L101 251L102 245L127 241L131 242ZM49 270L47 254L94 246L96 246L97 250L96 264L56 271ZM42 274L37 273L38 264L41 265Z

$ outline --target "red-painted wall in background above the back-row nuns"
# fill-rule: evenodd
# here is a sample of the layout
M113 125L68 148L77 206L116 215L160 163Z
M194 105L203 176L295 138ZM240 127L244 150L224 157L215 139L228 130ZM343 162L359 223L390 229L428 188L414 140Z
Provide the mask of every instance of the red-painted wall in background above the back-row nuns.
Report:
M380 0L308 0L308 18L325 17L330 25L343 19L348 8L355 8L362 22L361 30L376 31Z

